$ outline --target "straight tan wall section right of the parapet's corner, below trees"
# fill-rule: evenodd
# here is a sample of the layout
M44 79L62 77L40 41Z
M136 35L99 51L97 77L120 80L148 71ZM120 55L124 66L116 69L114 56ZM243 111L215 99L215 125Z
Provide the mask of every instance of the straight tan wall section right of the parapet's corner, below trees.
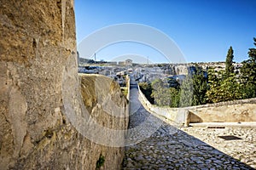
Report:
M256 122L256 99L189 107L189 122Z

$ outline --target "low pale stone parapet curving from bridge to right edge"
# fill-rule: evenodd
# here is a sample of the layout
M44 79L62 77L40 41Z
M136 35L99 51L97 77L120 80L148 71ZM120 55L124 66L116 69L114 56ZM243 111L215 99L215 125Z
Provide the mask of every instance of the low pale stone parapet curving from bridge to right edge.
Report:
M183 108L151 105L139 89L139 99L148 111L181 126L189 122L256 122L256 98Z

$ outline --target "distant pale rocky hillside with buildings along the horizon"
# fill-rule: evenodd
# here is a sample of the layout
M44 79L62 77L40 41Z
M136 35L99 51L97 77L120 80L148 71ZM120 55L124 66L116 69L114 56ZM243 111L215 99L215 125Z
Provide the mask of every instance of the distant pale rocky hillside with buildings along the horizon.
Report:
M224 71L225 62L199 62L185 64L136 64L132 63L131 59L125 61L94 61L93 59L79 58L79 73L100 74L111 77L119 82L120 86L124 86L125 76L131 75L138 82L152 82L157 78L165 79L172 78L177 82L182 82L187 75L195 73L195 65L204 71L204 76L207 77L208 68L214 71ZM241 63L233 63L235 72L239 73L242 66Z

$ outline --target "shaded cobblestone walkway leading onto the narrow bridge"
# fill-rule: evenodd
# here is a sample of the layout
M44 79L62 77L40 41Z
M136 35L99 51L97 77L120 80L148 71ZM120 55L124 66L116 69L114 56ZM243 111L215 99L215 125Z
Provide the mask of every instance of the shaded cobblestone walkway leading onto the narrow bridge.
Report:
M136 85L131 83L130 129L139 127L152 114L148 113L138 101ZM157 123L154 123L157 122ZM160 123L154 117L152 129ZM150 123L150 122L148 122ZM146 123L147 124L147 123ZM142 134L148 135L148 127L140 128L140 134L128 133L131 144L140 140ZM149 129L149 130L152 130ZM253 169L241 161L224 154L207 143L184 133L177 127L161 122L160 127L148 139L125 147L125 159L122 169Z

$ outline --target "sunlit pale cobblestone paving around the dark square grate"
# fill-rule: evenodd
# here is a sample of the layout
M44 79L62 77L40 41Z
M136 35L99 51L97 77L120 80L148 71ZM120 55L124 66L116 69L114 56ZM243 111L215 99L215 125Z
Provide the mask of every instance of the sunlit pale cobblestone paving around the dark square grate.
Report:
M217 150L256 168L256 128L255 127L183 127L185 133L201 139ZM224 140L218 136L234 135L237 140Z

